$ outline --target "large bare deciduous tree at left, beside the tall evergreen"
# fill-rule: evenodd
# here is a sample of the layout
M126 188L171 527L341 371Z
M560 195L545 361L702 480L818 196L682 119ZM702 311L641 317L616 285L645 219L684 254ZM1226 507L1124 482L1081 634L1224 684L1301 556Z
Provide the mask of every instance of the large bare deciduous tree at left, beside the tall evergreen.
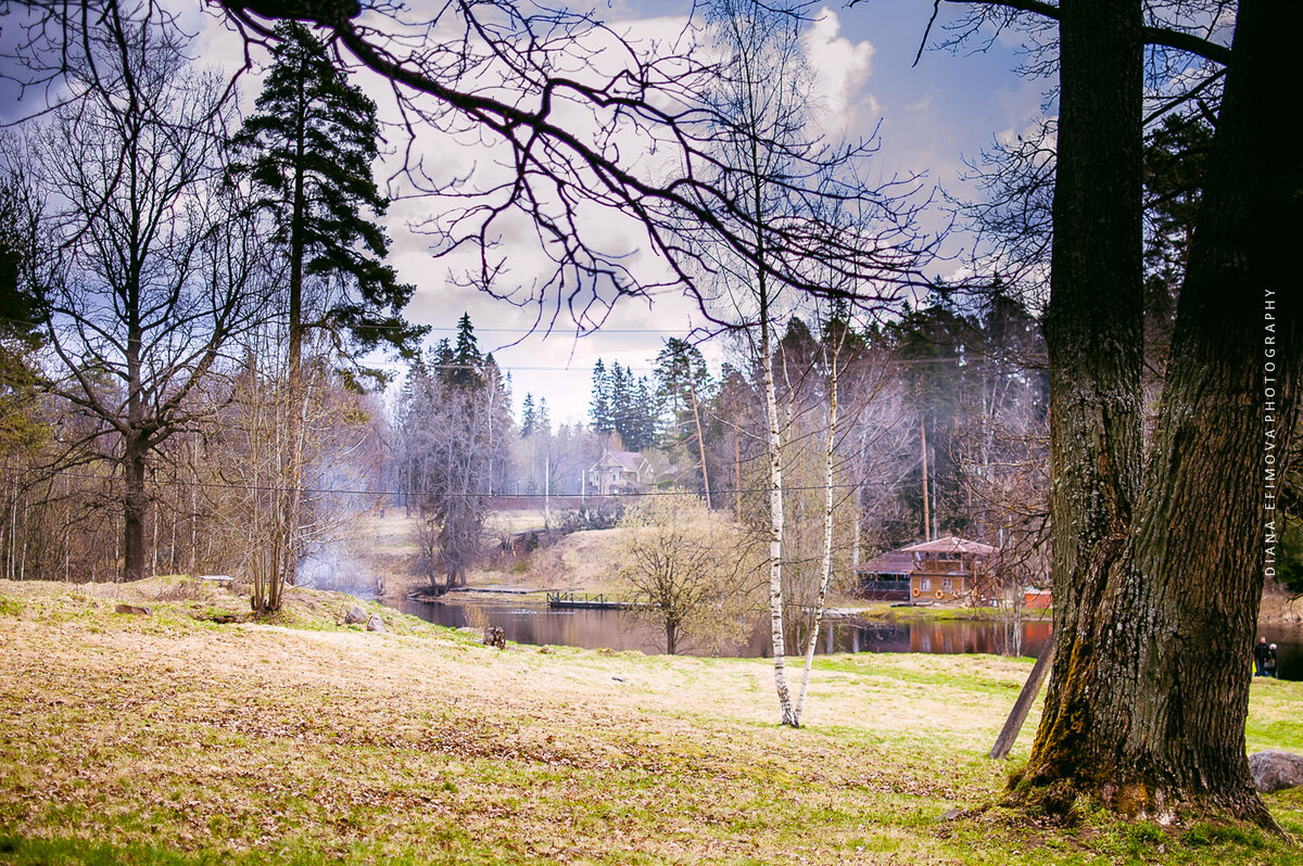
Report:
M222 181L219 79L147 25L113 20L86 44L70 74L89 95L29 139L63 251L46 387L95 419L61 465L121 469L122 577L139 580L150 456L202 419L190 397L259 309L259 259Z

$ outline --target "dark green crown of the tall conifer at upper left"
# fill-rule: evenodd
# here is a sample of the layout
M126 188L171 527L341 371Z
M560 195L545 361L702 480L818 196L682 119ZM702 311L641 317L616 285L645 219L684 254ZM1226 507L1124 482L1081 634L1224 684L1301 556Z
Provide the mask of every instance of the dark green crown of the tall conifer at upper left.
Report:
M410 354L423 333L401 318L413 286L382 263L388 238L374 217L388 199L371 178L378 137L375 103L304 25L280 23L255 112L233 143L248 158L236 171L253 180L288 251L292 379L309 329L345 333L353 358L380 345ZM344 290L314 309L304 297L310 277L334 279Z

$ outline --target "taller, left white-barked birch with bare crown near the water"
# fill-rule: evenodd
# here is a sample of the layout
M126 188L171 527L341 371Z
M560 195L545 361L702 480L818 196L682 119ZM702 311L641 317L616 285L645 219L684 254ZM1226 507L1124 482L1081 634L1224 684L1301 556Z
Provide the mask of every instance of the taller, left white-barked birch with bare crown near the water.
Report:
M717 284L717 318L740 329L760 367L769 458L769 609L779 720L796 727L786 673L783 629L783 423L775 387L773 323L801 298L840 298L855 307L894 300L917 275L926 249L913 230L909 181L869 188L856 172L864 142L830 145L817 132L814 98L800 33L804 5L719 0L708 8L722 55L708 98L715 125L711 182L751 233L747 253L702 229L694 234ZM834 225L827 214L853 207L864 219ZM788 233L823 238L794 246ZM787 268L800 272L796 277ZM732 318L724 320L724 314Z

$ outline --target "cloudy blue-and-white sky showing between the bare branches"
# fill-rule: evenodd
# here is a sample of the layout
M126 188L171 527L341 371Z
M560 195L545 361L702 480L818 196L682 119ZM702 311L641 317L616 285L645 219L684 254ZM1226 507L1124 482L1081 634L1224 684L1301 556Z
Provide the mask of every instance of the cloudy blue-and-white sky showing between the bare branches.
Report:
M201 59L237 65L242 55L238 40L216 18L195 14L194 7L181 8L199 31ZM689 5L678 1L611 0L599 4L594 14L631 34L668 38L681 31L688 12ZM942 9L942 14L946 12ZM870 177L920 173L926 189L962 191L963 159L976 158L997 137L1010 138L1029 126L1040 115L1045 82L1016 76L1015 46L1002 40L985 52L924 51L915 65L930 14L932 4L926 0L868 0L853 8L830 4L816 8L818 21L810 26L805 44L818 78L826 132L850 137L877 132L880 150L869 167ZM0 20L0 44L12 39L13 31L12 26L3 27ZM259 57L255 55L254 60ZM357 83L377 100L382 120L396 119L383 82L358 77ZM246 76L241 89L244 104L251 105L259 89L257 76ZM27 113L35 99L40 95L30 94L20 104L12 90L0 87L0 117ZM387 145L392 167L396 151L407 146L404 135L391 132ZM422 141L418 133L414 146L429 147L430 163L448 173L493 171L491 150L482 142L464 141L450 148L446 138L433 143ZM378 167L378 175L386 176L386 167ZM620 300L594 333L577 337L573 323L564 315L547 332L546 319L539 324L539 311L533 305L516 306L456 285L450 273L450 264L456 262L434 259L430 237L413 230L438 204L430 199L401 201L404 191L401 186L391 189L400 201L384 221L391 237L390 260L404 281L416 285L408 318L431 328L433 344L451 337L457 319L469 313L481 349L493 352L511 372L517 408L532 393L536 400L547 400L554 423L582 421L598 358L607 365L614 361L628 366L637 375L650 375L666 339L688 336L704 324L692 301L666 289L650 301ZM939 203L924 220L933 229L946 221ZM594 227L601 225L601 217L594 217ZM620 242L619 225L606 228L612 233L612 244ZM528 253L512 255L509 240L508 279L528 280L539 263ZM955 236L947 247L954 258L936 262L929 272L945 276L958 271L964 240ZM730 353L723 340L702 342L701 349L714 370Z

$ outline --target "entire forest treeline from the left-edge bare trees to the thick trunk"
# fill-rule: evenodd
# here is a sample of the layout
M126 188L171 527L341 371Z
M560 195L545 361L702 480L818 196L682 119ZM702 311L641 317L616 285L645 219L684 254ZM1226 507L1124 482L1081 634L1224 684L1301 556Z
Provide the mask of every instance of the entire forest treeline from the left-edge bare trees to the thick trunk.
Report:
M461 582L494 496L584 494L603 449L642 453L653 487L758 527L754 352L736 341L711 375L668 340L650 376L599 361L585 422L554 425L543 395L515 418L509 375L469 316L427 350L403 319L413 286L384 262L374 103L308 27L276 36L240 119L179 31L104 27L89 42L98 65L72 73L85 96L7 133L0 574L238 573L275 609L349 516L401 505L421 516L431 582ZM818 559L837 333L839 573L959 533L1025 542L1019 580L1042 577L1035 316L1007 297L938 297L873 327L846 310L805 318L790 315L770 353L794 576ZM374 388L379 350L404 361L394 405Z

